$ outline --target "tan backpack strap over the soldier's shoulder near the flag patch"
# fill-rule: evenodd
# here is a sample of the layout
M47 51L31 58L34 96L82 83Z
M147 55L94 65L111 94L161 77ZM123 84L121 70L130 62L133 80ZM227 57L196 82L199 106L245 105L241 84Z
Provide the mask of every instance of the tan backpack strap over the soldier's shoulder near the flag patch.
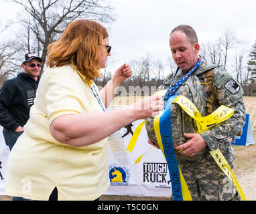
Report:
M216 67L218 66L210 64L204 68L204 89L208 94L208 100L206 103L207 114L212 113L213 105L216 107L220 106L213 90L213 69Z

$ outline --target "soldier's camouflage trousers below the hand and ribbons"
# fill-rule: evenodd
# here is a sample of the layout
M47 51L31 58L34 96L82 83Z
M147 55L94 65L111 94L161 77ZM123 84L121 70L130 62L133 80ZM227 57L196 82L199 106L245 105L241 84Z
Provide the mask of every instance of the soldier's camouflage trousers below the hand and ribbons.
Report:
M232 181L209 152L205 152L199 160L178 159L178 156L177 160L193 201L241 200Z

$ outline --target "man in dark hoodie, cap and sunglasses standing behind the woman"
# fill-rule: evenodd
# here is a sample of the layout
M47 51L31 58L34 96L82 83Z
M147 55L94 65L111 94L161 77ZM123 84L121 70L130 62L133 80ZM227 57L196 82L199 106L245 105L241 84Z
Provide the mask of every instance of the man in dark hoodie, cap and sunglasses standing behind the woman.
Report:
M25 54L21 68L24 72L7 80L0 90L0 125L3 126L5 143L10 150L23 132L34 104L40 80L42 58L34 53Z

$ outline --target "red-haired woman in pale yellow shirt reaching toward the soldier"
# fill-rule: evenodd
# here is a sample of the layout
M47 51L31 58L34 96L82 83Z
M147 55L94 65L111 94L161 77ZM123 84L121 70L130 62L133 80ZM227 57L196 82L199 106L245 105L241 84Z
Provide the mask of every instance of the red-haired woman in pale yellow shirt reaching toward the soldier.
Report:
M11 150L5 193L32 200L97 200L109 187L107 137L159 113L152 96L106 111L117 87L132 74L117 69L99 91L94 84L111 56L109 35L96 21L80 19L48 46L48 68L24 132Z

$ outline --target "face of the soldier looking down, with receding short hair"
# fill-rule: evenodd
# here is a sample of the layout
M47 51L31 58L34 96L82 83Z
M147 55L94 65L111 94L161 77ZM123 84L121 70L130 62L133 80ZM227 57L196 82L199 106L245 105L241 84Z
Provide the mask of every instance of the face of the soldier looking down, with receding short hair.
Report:
M199 44L190 43L182 31L174 31L169 42L174 62L184 73L189 72L198 60Z

